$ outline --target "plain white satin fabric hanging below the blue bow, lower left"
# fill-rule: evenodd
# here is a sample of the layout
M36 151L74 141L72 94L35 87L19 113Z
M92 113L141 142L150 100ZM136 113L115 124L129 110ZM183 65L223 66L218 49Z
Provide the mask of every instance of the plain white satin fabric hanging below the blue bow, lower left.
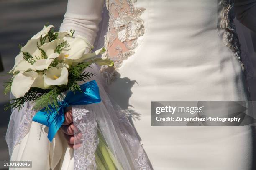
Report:
M31 170L73 170L74 150L58 131L53 141L47 138L48 128L32 122L29 132L12 152L11 161L32 161ZM20 170L24 168L9 168Z

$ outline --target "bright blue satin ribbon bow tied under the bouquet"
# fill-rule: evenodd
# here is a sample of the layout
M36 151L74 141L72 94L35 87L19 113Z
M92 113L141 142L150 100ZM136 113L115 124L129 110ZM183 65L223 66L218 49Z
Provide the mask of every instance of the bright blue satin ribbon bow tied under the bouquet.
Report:
M82 92L68 92L62 102L58 102L59 108L56 110L55 107L48 105L50 110L46 110L46 107L36 113L33 117L33 121L41 123L49 127L48 139L52 141L55 134L63 124L65 117L65 108L71 105L88 105L92 103L99 103L100 92L97 82L92 80L86 82L81 86Z

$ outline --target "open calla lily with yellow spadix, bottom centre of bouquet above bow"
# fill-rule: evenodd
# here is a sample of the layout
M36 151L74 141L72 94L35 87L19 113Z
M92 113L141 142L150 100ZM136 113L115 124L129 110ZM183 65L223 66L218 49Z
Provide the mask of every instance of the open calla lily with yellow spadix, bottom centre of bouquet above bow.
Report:
M59 63L56 67L51 67L45 71L44 82L46 85L67 85L68 83L68 65Z

